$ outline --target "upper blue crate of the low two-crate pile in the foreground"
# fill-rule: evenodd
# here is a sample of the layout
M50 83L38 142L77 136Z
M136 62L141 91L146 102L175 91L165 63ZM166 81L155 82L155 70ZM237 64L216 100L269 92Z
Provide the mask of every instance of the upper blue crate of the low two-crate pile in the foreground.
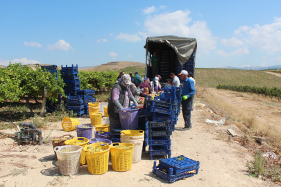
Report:
M178 157L182 157L183 160L178 161ZM173 157L170 159L159 159L159 167L169 170L173 169L173 175L180 174L181 172L189 172L196 170L198 174L198 169L200 168L200 162L189 159L183 155L178 157Z

